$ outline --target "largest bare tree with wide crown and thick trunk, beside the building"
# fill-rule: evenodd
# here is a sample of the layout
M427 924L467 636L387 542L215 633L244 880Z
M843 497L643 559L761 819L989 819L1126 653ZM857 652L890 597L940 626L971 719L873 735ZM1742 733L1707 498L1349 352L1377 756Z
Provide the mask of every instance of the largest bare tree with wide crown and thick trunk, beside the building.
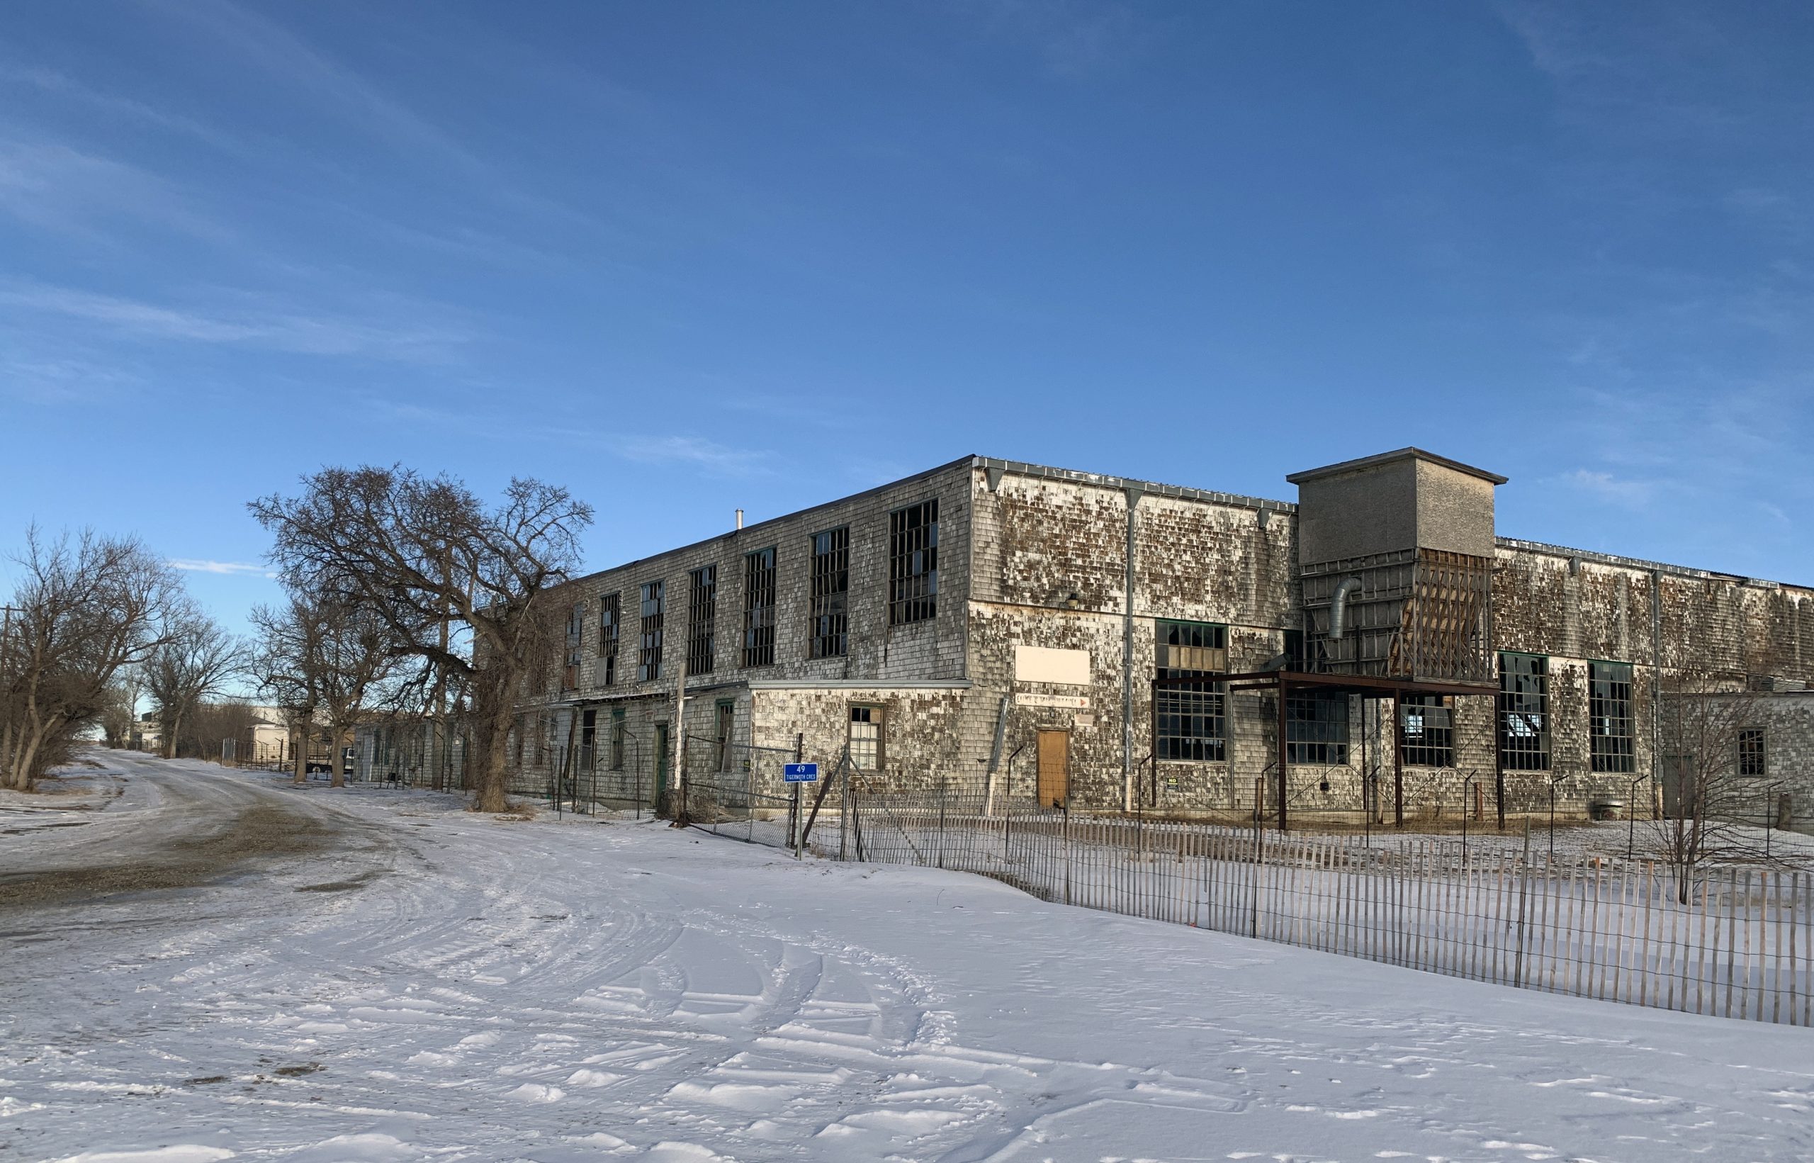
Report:
M555 642L546 590L577 568L591 506L524 479L486 506L452 477L366 466L321 470L301 495L250 510L292 588L356 595L421 662L408 684L468 691L473 807L504 811L515 702ZM464 633L444 633L448 622Z

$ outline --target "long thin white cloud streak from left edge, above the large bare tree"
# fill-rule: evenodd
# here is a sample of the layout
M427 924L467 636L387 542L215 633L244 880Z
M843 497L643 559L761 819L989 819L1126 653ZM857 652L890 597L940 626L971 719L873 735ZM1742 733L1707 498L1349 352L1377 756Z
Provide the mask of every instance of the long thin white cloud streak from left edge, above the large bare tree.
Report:
M252 296L258 301L256 296ZM274 307L165 307L42 283L0 283L0 305L98 323L122 336L183 343L258 347L307 356L370 356L441 363L468 332L437 323L374 323L348 316Z

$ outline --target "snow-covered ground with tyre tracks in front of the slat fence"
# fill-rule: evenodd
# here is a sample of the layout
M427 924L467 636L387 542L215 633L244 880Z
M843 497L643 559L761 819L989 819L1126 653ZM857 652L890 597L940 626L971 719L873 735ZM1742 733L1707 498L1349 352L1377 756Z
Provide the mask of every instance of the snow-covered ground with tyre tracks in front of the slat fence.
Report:
M1814 1156L1803 1029L100 758L89 822L0 816L0 1159Z

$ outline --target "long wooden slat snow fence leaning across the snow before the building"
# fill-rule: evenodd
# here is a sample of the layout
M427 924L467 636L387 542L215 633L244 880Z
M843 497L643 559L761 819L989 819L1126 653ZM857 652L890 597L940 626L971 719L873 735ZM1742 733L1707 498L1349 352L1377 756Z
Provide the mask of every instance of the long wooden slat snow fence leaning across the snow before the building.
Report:
M1814 876L1478 840L1310 836L849 793L827 856L1522 989L1814 1023ZM1685 900L1683 900L1685 898Z

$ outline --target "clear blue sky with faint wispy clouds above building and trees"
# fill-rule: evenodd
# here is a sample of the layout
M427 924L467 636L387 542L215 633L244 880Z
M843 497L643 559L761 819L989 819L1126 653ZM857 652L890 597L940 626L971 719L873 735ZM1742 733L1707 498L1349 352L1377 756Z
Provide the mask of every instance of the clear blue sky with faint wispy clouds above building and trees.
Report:
M1803 4L0 7L0 544L512 474L591 566L969 452L1814 582Z

